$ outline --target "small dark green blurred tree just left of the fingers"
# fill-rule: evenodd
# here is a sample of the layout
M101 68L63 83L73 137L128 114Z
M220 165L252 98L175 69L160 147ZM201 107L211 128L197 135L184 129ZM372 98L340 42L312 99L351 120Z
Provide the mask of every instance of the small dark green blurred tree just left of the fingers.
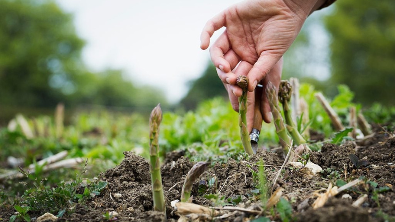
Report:
M181 100L180 104L187 110L193 110L197 104L216 96L228 97L222 81L218 78L217 71L211 62L201 77L190 82L188 94Z

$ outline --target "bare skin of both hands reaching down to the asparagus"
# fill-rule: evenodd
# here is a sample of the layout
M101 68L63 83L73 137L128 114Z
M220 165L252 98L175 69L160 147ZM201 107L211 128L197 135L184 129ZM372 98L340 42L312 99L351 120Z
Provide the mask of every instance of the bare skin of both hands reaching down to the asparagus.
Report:
M263 120L271 122L269 102L263 93L252 93L258 83L271 81L277 88L281 79L282 55L299 34L307 16L324 0L244 0L210 19L200 36L200 48L207 49L215 31L226 27L210 47L211 60L228 91L232 107L238 111L238 75L248 84L247 126L252 130L255 100L260 99ZM265 92L265 90L263 90Z

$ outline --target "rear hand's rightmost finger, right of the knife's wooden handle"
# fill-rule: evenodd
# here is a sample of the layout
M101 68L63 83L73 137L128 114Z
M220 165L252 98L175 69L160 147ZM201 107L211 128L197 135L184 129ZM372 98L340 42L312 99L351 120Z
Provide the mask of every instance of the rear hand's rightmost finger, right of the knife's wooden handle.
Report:
M263 79L262 84L264 89L266 89L266 86L268 85L269 81L271 81L278 89L278 86L281 81L281 72L282 72L282 58L276 63L276 65L273 67L273 69L270 71L267 77ZM266 90L263 90L261 99L262 99L261 110L263 113L263 120L266 123L270 123L272 121L273 116L272 116L272 111L270 109L268 97L266 96Z

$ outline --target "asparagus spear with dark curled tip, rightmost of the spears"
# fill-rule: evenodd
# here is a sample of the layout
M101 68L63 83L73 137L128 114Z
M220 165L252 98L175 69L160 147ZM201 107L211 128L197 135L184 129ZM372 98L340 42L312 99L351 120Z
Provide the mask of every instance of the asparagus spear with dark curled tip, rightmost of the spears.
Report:
M281 80L280 87L278 89L278 100L282 104L284 111L285 123L289 134L294 140L294 143L299 146L305 144L306 140L300 135L295 122L292 119L292 111L289 108L289 101L291 100L292 86L288 80Z

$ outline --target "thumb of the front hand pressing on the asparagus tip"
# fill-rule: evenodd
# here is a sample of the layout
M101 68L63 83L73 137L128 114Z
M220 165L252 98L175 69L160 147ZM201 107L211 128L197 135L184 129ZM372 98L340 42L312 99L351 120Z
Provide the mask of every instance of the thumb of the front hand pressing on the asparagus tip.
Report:
M278 56L272 52L264 51L261 53L258 61L247 75L249 79L248 91L254 91L258 82L266 77L280 58L281 55Z

